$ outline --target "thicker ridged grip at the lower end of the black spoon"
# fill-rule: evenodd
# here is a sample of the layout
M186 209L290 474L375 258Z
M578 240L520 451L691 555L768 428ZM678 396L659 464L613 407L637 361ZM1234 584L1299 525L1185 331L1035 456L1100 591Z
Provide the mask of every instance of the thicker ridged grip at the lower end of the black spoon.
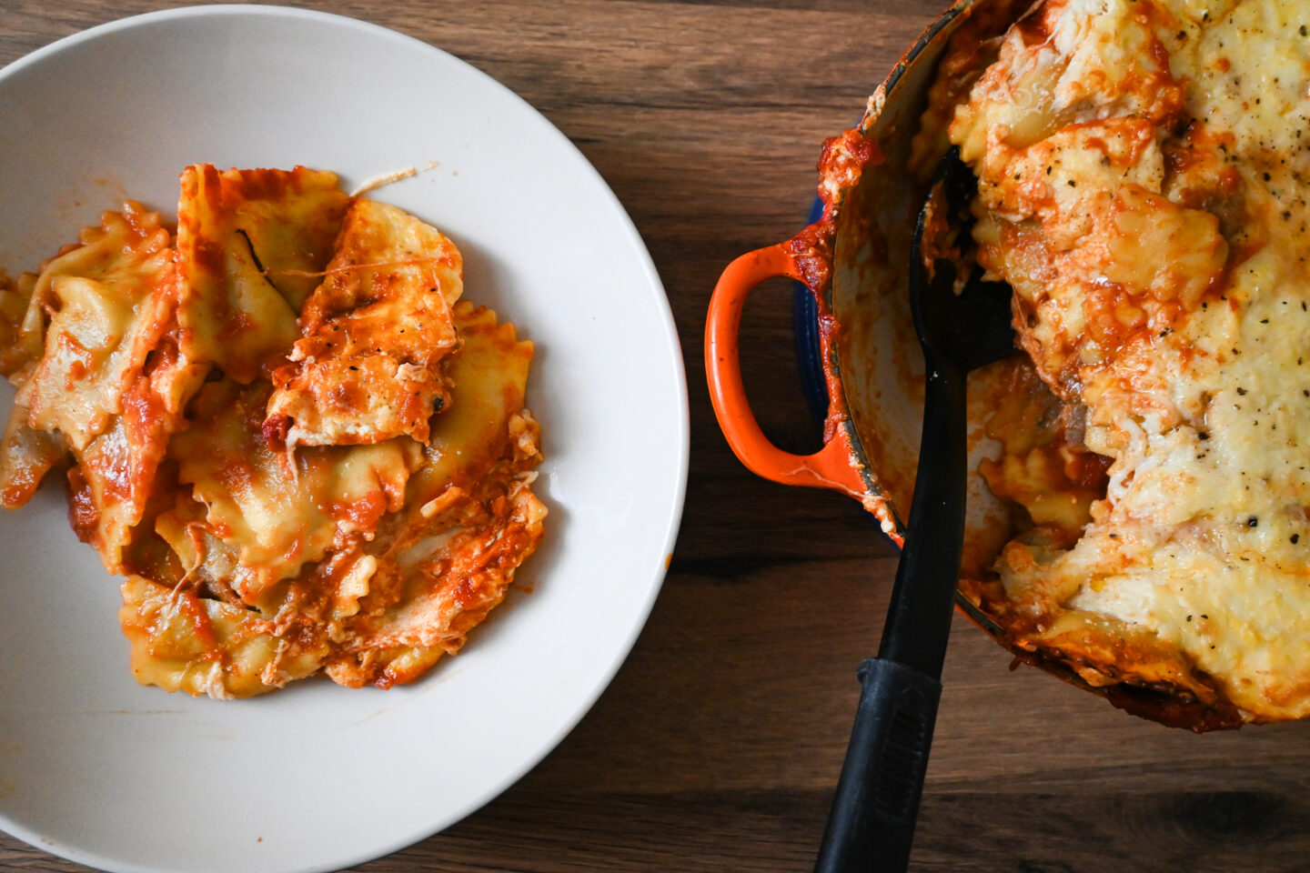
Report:
M942 683L896 661L859 665L862 690L815 873L909 864Z

